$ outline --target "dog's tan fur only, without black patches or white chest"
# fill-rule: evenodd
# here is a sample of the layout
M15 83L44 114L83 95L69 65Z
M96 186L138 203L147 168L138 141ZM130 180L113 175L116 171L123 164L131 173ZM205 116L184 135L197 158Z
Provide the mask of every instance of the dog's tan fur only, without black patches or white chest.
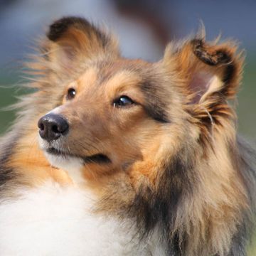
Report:
M196 180L192 173L187 178L195 188L178 203L173 229L167 235L171 240L178 234L180 245L184 235L190 238L182 255L228 255L242 213L250 208L245 183L233 162L238 152L230 151L237 147L236 116L228 104L241 79L242 58L236 53L237 47L231 42L218 45L200 39L201 50L212 56L211 61L217 63L219 53L230 56L234 70L224 83L230 63L203 63L194 53L193 41L185 41L181 48L169 45L163 60L146 63L119 57L114 39L102 48L94 33L88 37L82 29L77 24L57 41L46 40L43 48L47 52L30 64L36 74L38 70L41 73L38 82L30 84L38 92L21 103L24 111L17 127L26 127L26 132L18 139L7 165L33 185L47 178L72 183L65 171L49 166L36 143L36 120L61 105L59 113L70 124L63 147L82 156L110 157L110 164L92 162L82 172L87 186L100 199L108 198L99 199L98 210L122 215L118 209L128 208L142 188L149 186L152 193L157 193L167 160L178 155L186 161L188 154L195 163ZM66 50L70 51L68 55ZM202 72L213 80L195 100L191 85ZM166 102L167 124L146 112L149 97L142 90L146 77L157 81L157 93ZM70 87L77 95L69 101L65 95ZM121 95L137 104L115 109L112 101ZM181 188L184 185L178 175L170 179Z

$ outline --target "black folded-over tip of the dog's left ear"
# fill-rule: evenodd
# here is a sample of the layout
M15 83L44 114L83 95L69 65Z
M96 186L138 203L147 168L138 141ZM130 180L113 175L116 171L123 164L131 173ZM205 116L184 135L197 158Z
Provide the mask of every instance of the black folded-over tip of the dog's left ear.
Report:
M82 24L83 26L88 26L90 23L85 18L80 18L78 16L67 16L58 19L50 25L48 33L46 36L50 41L57 41L67 29L74 24Z

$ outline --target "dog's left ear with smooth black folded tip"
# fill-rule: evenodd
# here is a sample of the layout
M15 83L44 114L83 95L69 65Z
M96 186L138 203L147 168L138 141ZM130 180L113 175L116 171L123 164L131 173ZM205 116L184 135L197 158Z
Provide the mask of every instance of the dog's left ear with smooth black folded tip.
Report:
M93 26L85 18L60 18L50 25L46 50L48 58L61 68L72 69L74 63L95 57L119 55L117 41Z

